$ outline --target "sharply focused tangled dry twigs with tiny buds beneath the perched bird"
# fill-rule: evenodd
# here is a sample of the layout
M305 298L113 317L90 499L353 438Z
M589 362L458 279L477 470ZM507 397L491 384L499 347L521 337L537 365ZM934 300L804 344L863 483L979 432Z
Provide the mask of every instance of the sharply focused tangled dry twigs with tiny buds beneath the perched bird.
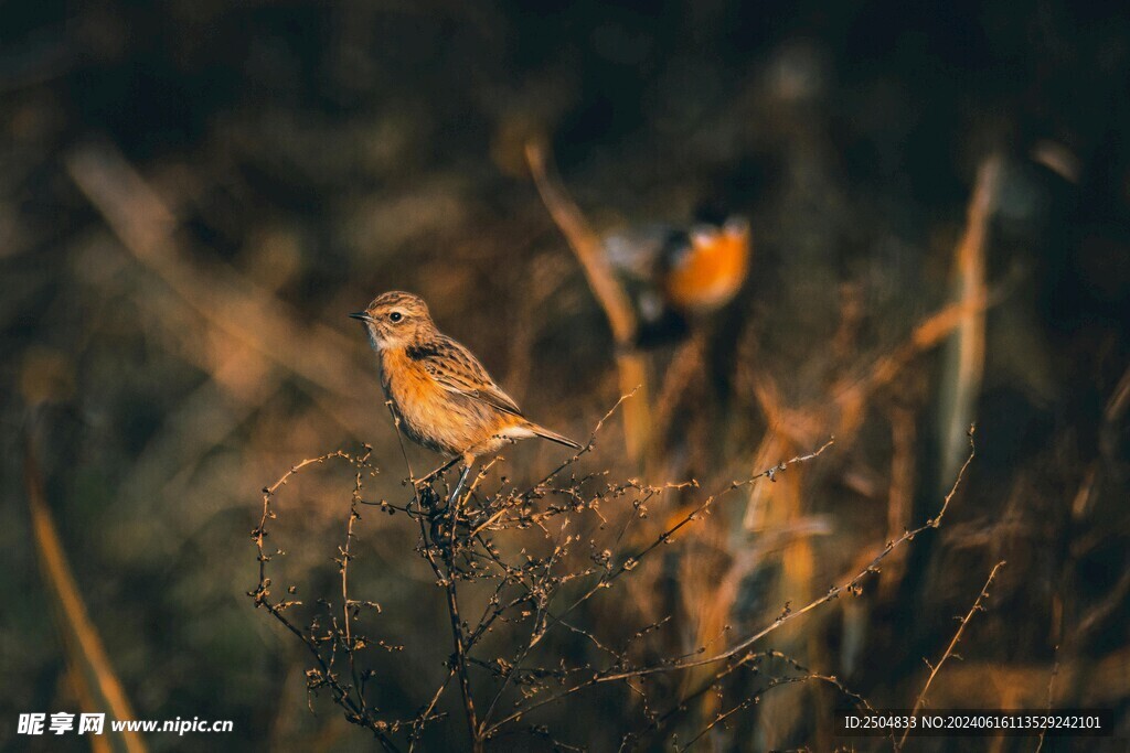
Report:
M457 723L464 727L475 751L520 734L571 750L575 745L558 738L560 730L546 723L544 712L599 688L621 693L625 704L637 712L635 728L616 730L621 750L657 739L675 743L678 750L688 748L755 706L763 693L783 684L822 683L847 703L870 708L835 676L809 671L780 651L754 650L754 645L844 592L858 593L887 554L940 524L957 482L935 517L888 542L846 583L832 586L798 608L784 605L768 624L744 637L719 637L723 647L697 646L680 653L670 649L670 641L664 648L662 633L669 629L669 616L631 625L623 615L612 621L601 619L599 615L608 613L607 598L603 606L598 604L601 595L641 572L643 563L661 559L659 551L675 544L685 528L709 516L729 494L819 457L832 441L704 496L657 533L647 531L649 507L663 494L693 494L698 484L686 481L657 487L635 479L609 481L603 472L581 473L579 461L592 452L610 414L583 449L528 487L496 476L499 458L495 458L454 491L446 476L438 474L412 483L411 497L402 504L366 500L365 482L376 474L366 448L362 454L339 450L303 461L264 488L262 516L252 532L259 552L259 583L249 595L308 650L313 658L306 673L308 691L328 691L346 718L370 729L388 751L412 751L435 726ZM287 598L295 587L288 587L284 597L273 593L269 570L284 552L271 551L266 540L276 520L272 502L279 490L304 470L330 462L345 463L354 472L345 541L333 560L340 595L339 601L319 599L316 608L307 606L304 613L312 616L303 624L292 616L302 602ZM370 510L400 516L412 526L414 553L434 576L450 622L450 656L436 676L435 690L408 717L386 711L366 694L376 681L367 651L399 648L370 637L368 628L362 628L372 623L370 615L379 613L380 606L358 599L350 580L357 523ZM704 674L703 668L709 672ZM693 701L707 694L719 699L714 708L724 710L696 718L698 707ZM690 733L685 743L677 739L680 730L685 736ZM597 733L589 732L580 744L591 742L593 735ZM607 743L611 736L603 733L599 738Z

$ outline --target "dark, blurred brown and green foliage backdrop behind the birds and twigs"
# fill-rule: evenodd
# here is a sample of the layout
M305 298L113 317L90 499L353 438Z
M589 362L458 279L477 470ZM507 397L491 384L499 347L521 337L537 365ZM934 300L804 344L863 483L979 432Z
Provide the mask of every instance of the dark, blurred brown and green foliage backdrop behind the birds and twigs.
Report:
M0 19L5 736L16 711L80 700L35 566L29 426L134 712L235 720L219 743L154 750L366 742L329 703L308 712L305 657L244 595L258 492L370 443L375 493L406 493L345 316L383 290L421 294L539 421L584 437L616 401L605 315L529 180L539 135L599 233L733 213L753 234L740 295L645 356L667 430L643 465L623 432L593 462L710 488L837 436L590 619L675 613L685 648L723 623L748 632L932 514L951 427L976 420L977 459L937 535L773 647L910 706L921 657L1005 559L930 702L1038 708L1058 666L1057 704L1115 708L1127 734L1124 8L49 0L5 2ZM914 344L955 296L973 307ZM852 391L895 356L889 378ZM507 475L532 478L559 453L506 455ZM332 580L344 483L290 492L289 567L310 578ZM372 517L364 597L408 643L384 692L415 708L443 656L414 646L446 628L402 564L411 529ZM714 744L835 745L819 730L835 698L772 698ZM629 713L557 712L598 748Z

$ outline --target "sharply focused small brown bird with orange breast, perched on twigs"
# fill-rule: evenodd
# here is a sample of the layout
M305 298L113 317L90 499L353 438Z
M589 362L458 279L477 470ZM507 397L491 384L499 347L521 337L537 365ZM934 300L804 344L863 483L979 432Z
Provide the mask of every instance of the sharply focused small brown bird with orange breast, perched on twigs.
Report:
M384 394L405 434L428 449L454 456L441 471L460 457L470 469L476 456L513 439L541 437L580 449L572 439L522 415L471 351L436 329L419 296L385 292L349 316L360 319L368 332L381 360Z

